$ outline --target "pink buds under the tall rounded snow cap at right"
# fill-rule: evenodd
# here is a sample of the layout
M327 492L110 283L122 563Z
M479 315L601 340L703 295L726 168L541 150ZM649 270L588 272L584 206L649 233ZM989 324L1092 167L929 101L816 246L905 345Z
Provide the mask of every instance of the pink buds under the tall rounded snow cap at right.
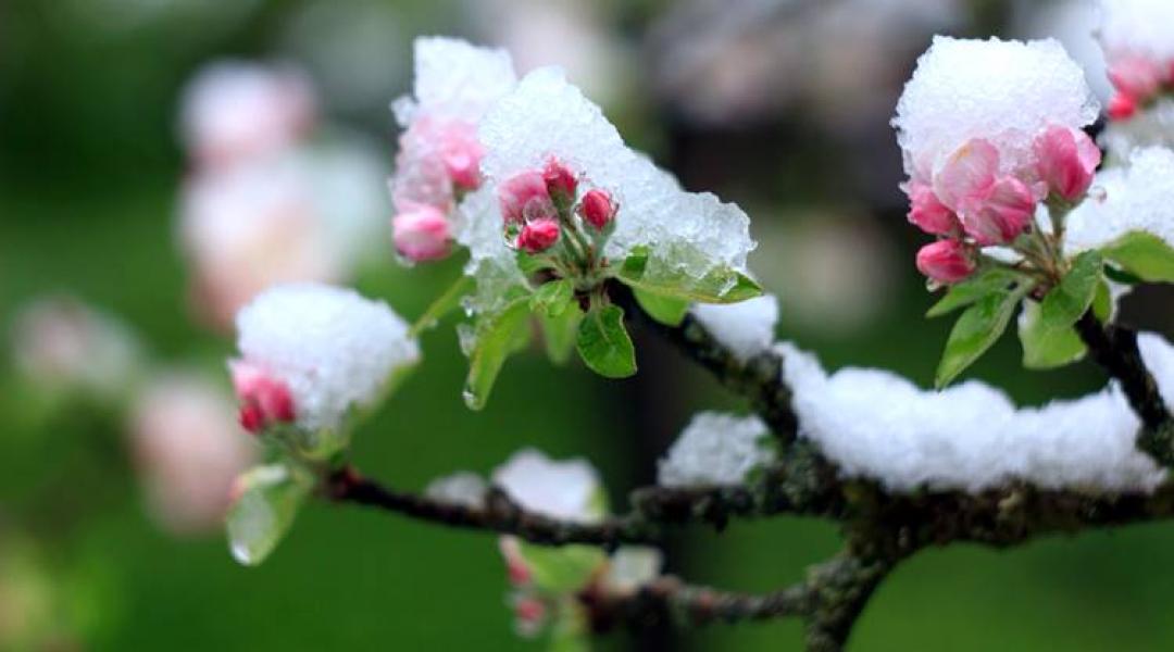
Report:
M917 253L917 267L936 283L958 283L977 269L984 246L1014 246L1034 227L1037 206L1071 206L1087 191L1101 154L1080 129L1051 125L1033 141L1027 165L1000 172L999 150L973 138L932 178L906 185L909 220L939 239Z

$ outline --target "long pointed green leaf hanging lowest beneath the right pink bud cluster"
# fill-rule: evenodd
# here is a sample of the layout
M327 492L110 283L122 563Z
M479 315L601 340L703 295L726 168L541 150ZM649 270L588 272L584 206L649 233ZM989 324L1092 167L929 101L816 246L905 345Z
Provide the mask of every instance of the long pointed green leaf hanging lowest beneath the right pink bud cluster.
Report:
M966 367L978 360L1007 328L1016 304L1031 291L1025 283L1014 290L996 290L974 301L950 331L946 348L938 364L935 386L938 389L950 385Z

